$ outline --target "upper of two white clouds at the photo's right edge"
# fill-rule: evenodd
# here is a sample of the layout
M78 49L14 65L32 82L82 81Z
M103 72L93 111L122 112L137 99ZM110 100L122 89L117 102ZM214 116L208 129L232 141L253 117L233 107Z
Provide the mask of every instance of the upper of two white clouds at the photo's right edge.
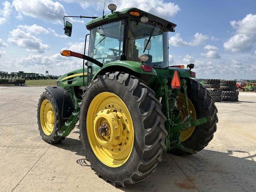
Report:
M230 21L230 24L238 34L255 34L256 33L256 15L248 14L244 19L239 21Z

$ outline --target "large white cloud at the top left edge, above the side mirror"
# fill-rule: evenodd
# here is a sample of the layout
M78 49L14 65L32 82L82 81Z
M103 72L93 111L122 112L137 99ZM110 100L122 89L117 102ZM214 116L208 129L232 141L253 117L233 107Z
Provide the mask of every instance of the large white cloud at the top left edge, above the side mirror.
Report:
M16 11L26 16L62 24L65 9L59 2L52 0L13 0Z

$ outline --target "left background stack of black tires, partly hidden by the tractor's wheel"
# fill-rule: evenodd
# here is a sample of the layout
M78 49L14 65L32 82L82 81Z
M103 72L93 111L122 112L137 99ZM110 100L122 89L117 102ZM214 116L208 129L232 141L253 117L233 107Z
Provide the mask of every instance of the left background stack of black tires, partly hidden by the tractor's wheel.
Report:
M219 79L205 79L204 87L207 88L208 92L215 100L215 102L221 101L220 80Z

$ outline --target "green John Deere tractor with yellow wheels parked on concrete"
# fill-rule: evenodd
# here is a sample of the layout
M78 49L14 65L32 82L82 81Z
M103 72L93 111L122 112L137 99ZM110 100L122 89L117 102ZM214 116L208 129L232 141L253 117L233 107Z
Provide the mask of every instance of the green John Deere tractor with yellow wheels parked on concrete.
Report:
M83 68L56 80L39 99L42 139L59 143L78 120L91 168L116 187L140 183L156 170L163 152L201 151L216 132L217 108L197 81L194 64L169 66L168 32L176 24L137 8L92 18ZM65 34L72 24L64 21ZM88 35L85 37L87 42ZM86 60L86 62L85 62Z

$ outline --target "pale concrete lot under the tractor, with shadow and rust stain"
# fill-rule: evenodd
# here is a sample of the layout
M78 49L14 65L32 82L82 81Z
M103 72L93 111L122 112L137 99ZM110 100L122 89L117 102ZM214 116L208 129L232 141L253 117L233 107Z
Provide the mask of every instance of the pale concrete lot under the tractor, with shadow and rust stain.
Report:
M44 87L0 86L1 192L256 192L256 93L217 102L210 144L191 156L164 153L147 180L115 188L84 160L79 129L61 144L41 139L36 110Z

